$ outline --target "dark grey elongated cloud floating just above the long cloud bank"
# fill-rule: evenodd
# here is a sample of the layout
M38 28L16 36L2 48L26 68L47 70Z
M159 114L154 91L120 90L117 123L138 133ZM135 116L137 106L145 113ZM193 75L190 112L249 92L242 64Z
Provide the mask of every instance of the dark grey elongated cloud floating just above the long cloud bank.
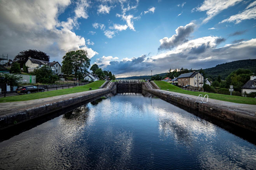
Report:
M159 40L161 45L158 50L172 49L173 47L184 43L188 40L187 38L190 36L190 34L194 32L195 28L196 24L194 24L193 22L185 25L185 27L180 26L175 30L176 34L173 35L171 38L165 37Z

